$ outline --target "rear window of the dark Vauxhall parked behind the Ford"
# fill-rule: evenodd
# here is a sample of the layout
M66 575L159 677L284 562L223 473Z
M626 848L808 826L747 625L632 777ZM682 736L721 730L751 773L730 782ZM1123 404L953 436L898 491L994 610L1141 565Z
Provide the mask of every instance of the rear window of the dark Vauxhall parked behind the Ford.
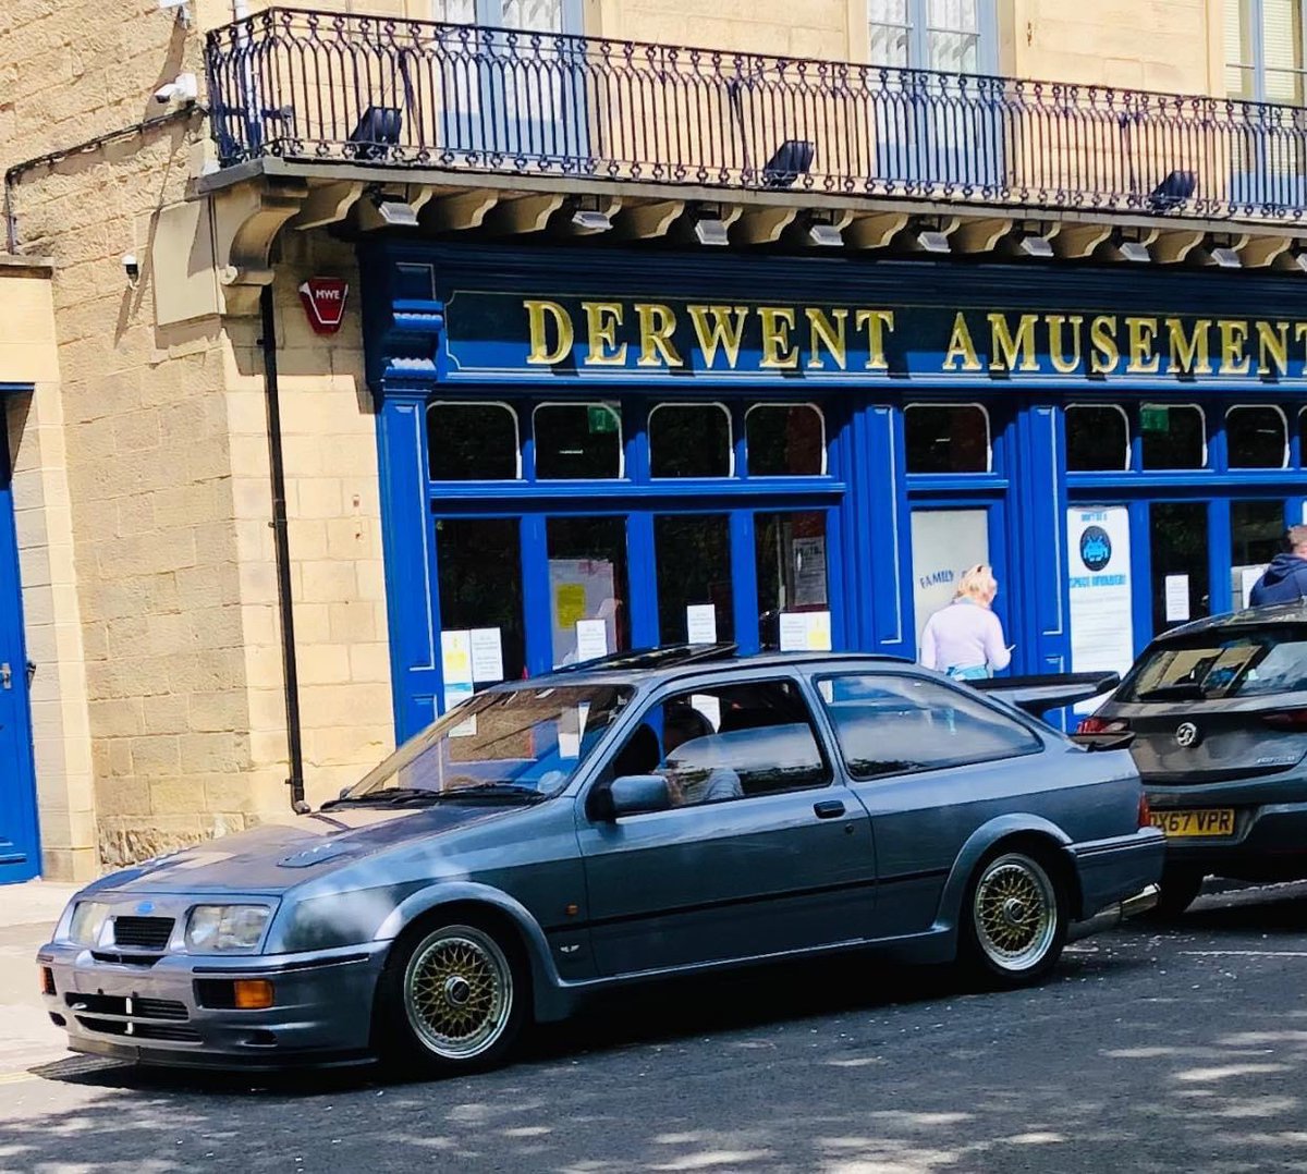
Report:
M1219 629L1150 648L1116 701L1202 701L1307 689L1307 629Z

